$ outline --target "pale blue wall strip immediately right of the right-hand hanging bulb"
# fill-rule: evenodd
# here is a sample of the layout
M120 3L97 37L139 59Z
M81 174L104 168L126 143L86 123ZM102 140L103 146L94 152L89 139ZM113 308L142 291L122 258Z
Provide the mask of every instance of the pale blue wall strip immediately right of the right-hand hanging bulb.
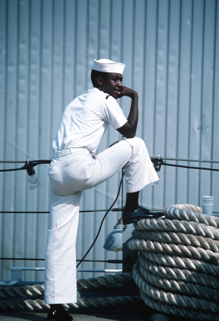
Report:
M167 97L165 120L165 155L176 158L177 154L177 124L178 124L178 86L179 86L179 30L180 30L180 1L169 4L169 35L168 35L168 67L167 67ZM176 200L176 172L173 167L165 168L164 204ZM161 206L162 207L162 206Z

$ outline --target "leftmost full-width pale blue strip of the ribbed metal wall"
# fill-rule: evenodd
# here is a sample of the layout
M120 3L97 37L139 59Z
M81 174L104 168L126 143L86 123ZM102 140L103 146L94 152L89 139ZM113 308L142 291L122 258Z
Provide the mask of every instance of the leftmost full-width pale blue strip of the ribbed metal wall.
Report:
M6 76L5 76L5 160L15 159L15 115L17 103L17 16L18 2L9 1L6 3L7 19L5 20L5 51L6 51ZM10 39L10 40L9 40ZM5 167L6 168L6 167ZM8 207L10 211L14 210L14 177L15 172L1 173L2 184L4 186L2 194L2 206ZM9 174L9 175L7 175ZM13 231L14 220L13 215L3 214L3 225L1 237L4 242L1 242L3 257L13 257ZM4 265L5 271L8 272L11 261L1 262ZM2 271L2 269L1 269ZM7 273L9 275L9 273Z

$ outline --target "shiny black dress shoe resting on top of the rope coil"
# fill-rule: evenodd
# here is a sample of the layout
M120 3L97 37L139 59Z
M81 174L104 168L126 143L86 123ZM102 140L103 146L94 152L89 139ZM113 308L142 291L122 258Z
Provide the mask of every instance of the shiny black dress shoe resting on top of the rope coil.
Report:
M124 209L123 212L123 225L128 225L131 223L135 223L141 219L158 219L159 217L163 216L162 212L150 212L143 206L139 206L133 212L126 212Z

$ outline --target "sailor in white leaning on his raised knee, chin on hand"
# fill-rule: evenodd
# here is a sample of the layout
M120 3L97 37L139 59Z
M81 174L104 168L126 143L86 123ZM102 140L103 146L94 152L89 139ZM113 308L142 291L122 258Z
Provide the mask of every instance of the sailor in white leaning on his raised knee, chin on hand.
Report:
M75 243L83 190L103 183L125 166L123 224L163 215L151 213L138 203L139 191L159 178L145 143L135 137L138 94L122 85L124 67L108 59L94 60L94 87L67 106L53 141L48 170L50 229L45 256L45 303L50 304L47 321L72 320L62 304L77 302ZM117 103L123 96L132 100L127 119ZM125 139L96 155L109 124Z

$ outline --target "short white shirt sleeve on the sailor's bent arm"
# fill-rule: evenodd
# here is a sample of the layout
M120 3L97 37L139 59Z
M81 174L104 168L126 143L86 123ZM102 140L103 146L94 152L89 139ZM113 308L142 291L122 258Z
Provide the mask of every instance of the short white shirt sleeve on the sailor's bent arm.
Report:
M100 112L103 119L115 129L122 127L127 122L122 109L112 96L108 95L103 99L100 106Z

